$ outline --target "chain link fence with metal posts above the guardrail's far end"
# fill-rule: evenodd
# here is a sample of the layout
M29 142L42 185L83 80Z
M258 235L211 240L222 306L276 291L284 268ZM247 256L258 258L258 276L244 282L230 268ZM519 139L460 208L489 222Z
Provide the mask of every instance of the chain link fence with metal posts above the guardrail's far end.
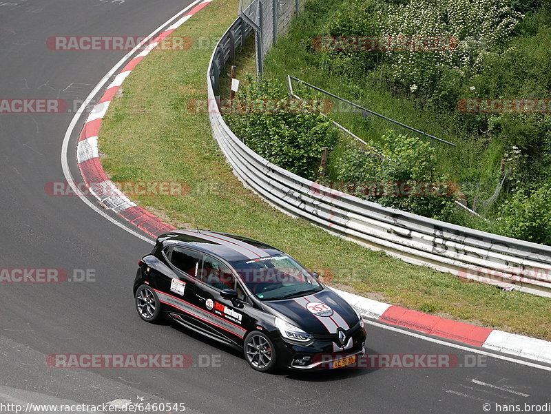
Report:
M280 34L289 30L291 19L304 9L306 0L240 0L239 15L255 32L256 73L264 72L264 56Z

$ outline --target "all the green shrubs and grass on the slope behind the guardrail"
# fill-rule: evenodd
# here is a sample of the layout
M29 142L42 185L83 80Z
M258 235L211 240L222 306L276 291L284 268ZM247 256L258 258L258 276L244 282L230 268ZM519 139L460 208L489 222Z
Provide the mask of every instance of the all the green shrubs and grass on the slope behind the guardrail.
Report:
M449 52L330 51L313 47L316 37L386 35L457 37L459 43L457 50ZM446 171L450 180L468 184L464 194L470 205L476 197L477 205L484 207L480 212L488 221L473 220L471 225L551 244L545 225L550 219L545 200L551 201L546 190L551 186L551 116L464 114L457 110L462 99L549 99L551 3L311 0L291 28L291 36L281 37L278 44L283 46L276 45L269 60L273 74L281 81L287 74L294 74L457 143L456 148L437 147L436 156L435 149L417 138L395 134L381 138L380 124L335 114L337 121L344 121L344 126L362 138L376 141L370 144L391 161L383 162L341 142L332 156L328 180L438 181L448 180L441 174ZM241 96L243 92L251 99L287 97L283 87L265 81L240 92ZM300 95L306 97L302 92ZM404 108L404 116L396 112L399 105ZM306 178L318 178L321 147L333 147L337 142L337 132L318 115L229 118L247 145ZM508 171L511 174L497 203L482 203L492 196L503 172ZM368 199L457 224L464 222L463 216L452 209L453 198Z

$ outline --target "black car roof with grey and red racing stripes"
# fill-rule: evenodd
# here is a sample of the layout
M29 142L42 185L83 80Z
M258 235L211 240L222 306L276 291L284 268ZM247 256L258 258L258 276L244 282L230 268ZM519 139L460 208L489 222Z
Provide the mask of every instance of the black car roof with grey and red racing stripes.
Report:
M236 234L208 230L174 230L158 236L163 245L191 247L226 260L238 262L283 253L280 249Z

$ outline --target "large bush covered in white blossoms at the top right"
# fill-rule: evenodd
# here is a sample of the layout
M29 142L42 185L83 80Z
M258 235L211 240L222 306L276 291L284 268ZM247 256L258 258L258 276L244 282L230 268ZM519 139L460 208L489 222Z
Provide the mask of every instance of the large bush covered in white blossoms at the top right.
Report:
M482 69L489 50L503 44L522 15L509 0L412 0L392 8L383 34L455 37L453 50L386 52L393 81L428 101L453 108L461 83Z

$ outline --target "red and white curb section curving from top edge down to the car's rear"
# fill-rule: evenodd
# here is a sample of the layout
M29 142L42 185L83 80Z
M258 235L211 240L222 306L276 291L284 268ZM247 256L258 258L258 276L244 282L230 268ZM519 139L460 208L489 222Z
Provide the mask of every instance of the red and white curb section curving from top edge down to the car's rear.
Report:
M107 209L111 209L119 216L125 218L132 224L136 225L139 229L145 231L151 236L159 236L176 229L176 227L163 222L149 211L143 209L133 203L127 198L112 181L107 177L107 174L103 171L101 161L98 152L98 132L101 125L101 121L109 108L109 105L114 98L116 92L121 88L123 81L132 72L136 65L142 61L142 59L149 54L156 46L167 38L174 30L183 25L191 17L205 8L213 0L204 0L198 3L194 8L189 10L183 17L178 19L176 23L169 25L169 27L158 34L153 39L152 43L149 43L143 52L134 57L127 65L121 70L121 72L115 76L112 83L107 86L103 96L98 101L97 105L92 109L88 116L81 134L79 136L79 143L76 147L76 161L79 164L79 169L84 182L88 189L94 196L101 202ZM136 48L140 47L138 45Z

